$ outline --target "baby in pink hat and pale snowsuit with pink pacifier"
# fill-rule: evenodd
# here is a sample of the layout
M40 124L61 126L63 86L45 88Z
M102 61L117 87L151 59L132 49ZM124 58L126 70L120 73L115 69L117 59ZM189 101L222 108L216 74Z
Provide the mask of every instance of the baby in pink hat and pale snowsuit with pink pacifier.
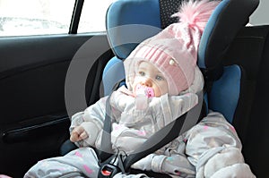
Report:
M111 151L127 155L196 106L197 93L204 87L203 75L196 66L197 49L217 4L209 0L182 4L176 14L178 23L143 41L126 58L126 87L72 116L70 140L79 148L64 157L39 161L24 177L98 177L95 149L101 149L107 103L112 118ZM215 112L131 167L173 177L255 177L244 163L236 131ZM114 177L146 176L119 173Z

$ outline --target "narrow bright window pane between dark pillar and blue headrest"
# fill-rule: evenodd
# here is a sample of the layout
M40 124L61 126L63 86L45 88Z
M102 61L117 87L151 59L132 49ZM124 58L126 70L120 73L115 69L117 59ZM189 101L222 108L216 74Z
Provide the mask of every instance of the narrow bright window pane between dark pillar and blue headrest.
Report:
M100 32L106 30L108 6L115 0L84 0L77 32Z

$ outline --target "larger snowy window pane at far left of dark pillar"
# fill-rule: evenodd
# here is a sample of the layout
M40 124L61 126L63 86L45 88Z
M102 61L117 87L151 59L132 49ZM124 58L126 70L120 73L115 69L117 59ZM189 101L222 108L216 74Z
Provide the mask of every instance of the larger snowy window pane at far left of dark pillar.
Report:
M0 0L0 37L68 33L75 0Z

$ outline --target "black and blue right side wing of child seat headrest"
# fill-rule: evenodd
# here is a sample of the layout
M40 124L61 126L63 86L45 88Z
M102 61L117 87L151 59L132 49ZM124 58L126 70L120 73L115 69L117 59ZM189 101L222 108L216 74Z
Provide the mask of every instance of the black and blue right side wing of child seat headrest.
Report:
M204 29L198 49L198 66L213 69L221 64L223 55L239 30L244 27L259 0L222 0Z

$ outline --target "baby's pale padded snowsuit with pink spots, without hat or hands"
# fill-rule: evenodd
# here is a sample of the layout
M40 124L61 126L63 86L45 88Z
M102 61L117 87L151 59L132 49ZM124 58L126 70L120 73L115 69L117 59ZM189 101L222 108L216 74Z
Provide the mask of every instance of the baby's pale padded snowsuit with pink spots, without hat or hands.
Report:
M203 77L195 71L195 81L179 96L149 98L147 109L137 109L135 98L124 87L110 97L112 148L127 154L138 148L155 131L177 119L197 104L196 92L203 89ZM39 161L30 168L29 177L97 177L100 138L108 97L101 98L84 112L74 114L70 131L82 125L89 137L80 147L65 155ZM169 174L172 177L256 177L245 164L239 137L222 114L211 112L192 129L158 151L134 163L132 168ZM144 174L117 174L115 177L142 177Z

